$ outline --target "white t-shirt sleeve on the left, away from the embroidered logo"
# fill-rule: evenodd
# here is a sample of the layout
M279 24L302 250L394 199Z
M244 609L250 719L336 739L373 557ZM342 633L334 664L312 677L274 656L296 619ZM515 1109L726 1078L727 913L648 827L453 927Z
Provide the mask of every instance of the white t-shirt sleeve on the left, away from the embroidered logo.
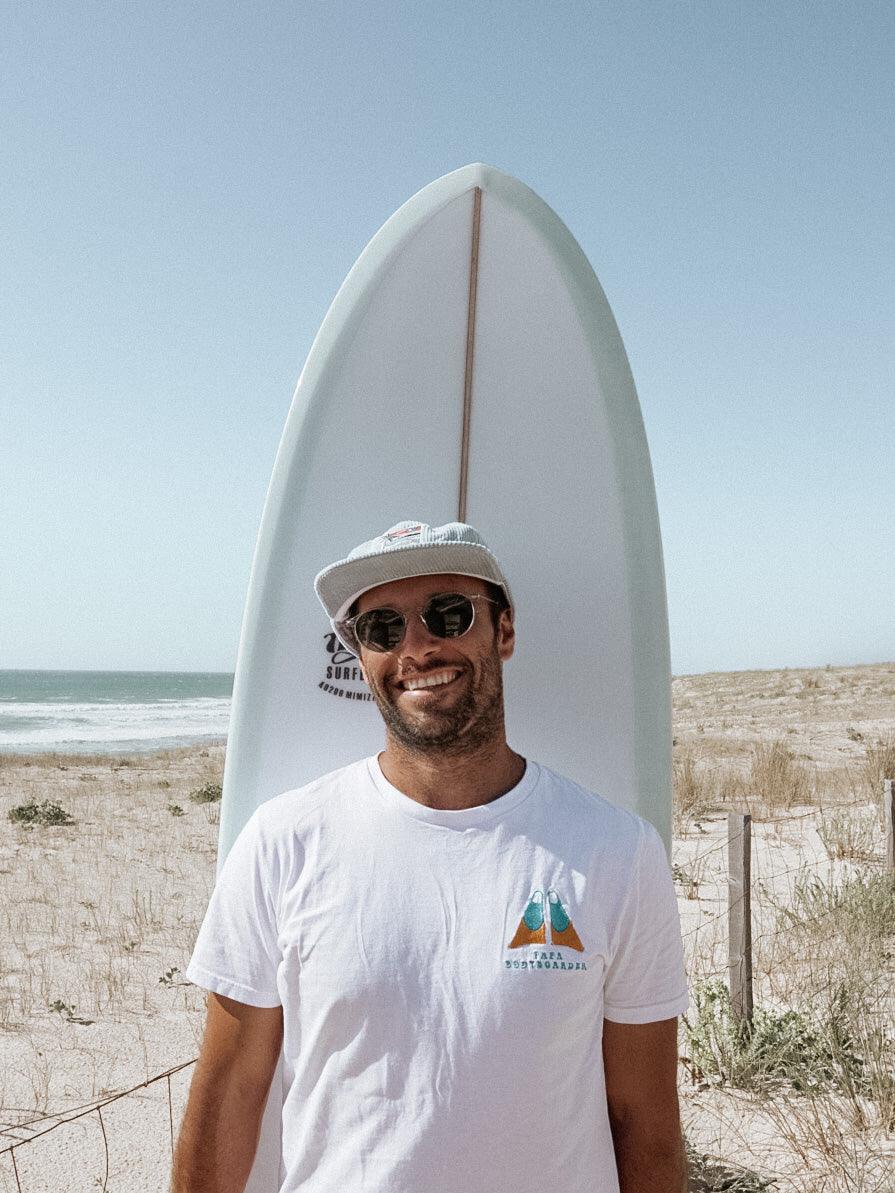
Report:
M186 977L252 1007L278 1007L276 891L279 865L255 812L217 876Z

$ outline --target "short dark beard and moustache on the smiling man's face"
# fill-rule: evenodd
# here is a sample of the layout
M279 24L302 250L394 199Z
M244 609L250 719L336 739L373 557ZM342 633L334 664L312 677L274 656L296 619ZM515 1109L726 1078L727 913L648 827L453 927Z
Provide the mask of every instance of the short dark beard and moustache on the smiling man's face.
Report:
M440 670L444 667L430 668ZM468 673L467 673L468 674ZM394 690L368 678L370 692L395 744L414 754L474 754L502 740L504 676L496 644L481 662L467 691L449 709L408 716L397 706Z

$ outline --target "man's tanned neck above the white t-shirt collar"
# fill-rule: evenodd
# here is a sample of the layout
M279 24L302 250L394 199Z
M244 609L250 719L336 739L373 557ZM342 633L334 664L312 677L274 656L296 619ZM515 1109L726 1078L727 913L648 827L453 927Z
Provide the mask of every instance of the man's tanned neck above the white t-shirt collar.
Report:
M525 759L502 737L473 754L451 754L408 750L389 735L379 766L393 787L442 811L489 804L512 790L525 773Z

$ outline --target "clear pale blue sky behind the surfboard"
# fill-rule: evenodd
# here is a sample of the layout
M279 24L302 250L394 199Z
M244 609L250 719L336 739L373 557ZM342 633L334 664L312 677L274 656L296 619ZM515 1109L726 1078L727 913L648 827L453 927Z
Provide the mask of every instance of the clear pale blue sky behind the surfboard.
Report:
M296 378L469 161L628 348L673 667L895 657L895 8L4 8L0 667L234 666Z

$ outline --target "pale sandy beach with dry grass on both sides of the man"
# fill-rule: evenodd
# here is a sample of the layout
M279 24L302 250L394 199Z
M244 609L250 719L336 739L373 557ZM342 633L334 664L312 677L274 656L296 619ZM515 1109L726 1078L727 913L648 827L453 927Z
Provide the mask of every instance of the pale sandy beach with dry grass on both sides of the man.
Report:
M825 991L841 989L853 1007L859 966L876 1032L856 1043L863 1084L822 1096L784 1078L773 1089L733 1084L706 1062L711 1040L695 1057L683 1032L686 1132L699 1156L720 1164L699 1161L695 1187L759 1189L753 1173L791 1193L891 1191L895 1092L887 1101L884 1062L870 1082L866 1055L887 1032L895 1037L895 947L891 938L888 953L869 938L846 939L853 923L840 914L842 900L822 900L856 876L883 874L874 768L895 740L895 663L680 676L673 697L672 860L691 988L726 979L727 811L749 811L757 1006L779 1022L808 1000L822 1018ZM191 793L220 783L223 758L223 744L118 758L0 755L0 1151L33 1138L17 1148L14 1166L0 1155L0 1193L167 1188L191 1069L152 1078L198 1050L204 993L181 972L214 885L220 805ZM73 823L8 818L44 802ZM811 935L809 898L828 913L822 934ZM889 914L879 903L883 935ZM696 1022L692 1009L689 1018ZM150 1081L101 1115L36 1137L58 1121L50 1115L90 1111Z

